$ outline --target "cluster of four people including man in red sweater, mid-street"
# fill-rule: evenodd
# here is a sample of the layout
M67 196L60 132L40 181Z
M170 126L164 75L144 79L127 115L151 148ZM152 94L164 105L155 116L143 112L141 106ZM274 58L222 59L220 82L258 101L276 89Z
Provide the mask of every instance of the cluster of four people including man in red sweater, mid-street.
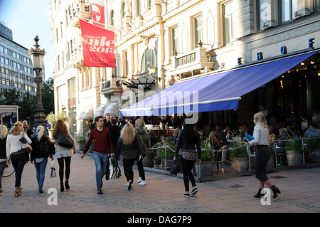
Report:
M106 114L104 117L95 117L95 129L90 131L90 137L85 144L81 158L89 150L93 141L93 158L95 160L95 178L97 183L97 194L102 194L102 179L107 174L108 159L115 156L117 159L122 154L124 176L127 179L127 188L132 189L134 181L133 165L137 161L139 170L138 185L146 185L144 167L142 160L150 149L149 134L146 132L144 120L137 119L135 128L131 123L126 123L119 127L116 118L110 118ZM107 127L106 127L107 126Z

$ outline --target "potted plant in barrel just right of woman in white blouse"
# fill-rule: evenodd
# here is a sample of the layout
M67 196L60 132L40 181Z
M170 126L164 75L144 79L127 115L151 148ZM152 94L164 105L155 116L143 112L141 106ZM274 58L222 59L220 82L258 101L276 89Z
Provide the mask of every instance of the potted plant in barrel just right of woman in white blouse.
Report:
M302 164L302 139L288 139L284 144L284 149L287 154L288 166Z

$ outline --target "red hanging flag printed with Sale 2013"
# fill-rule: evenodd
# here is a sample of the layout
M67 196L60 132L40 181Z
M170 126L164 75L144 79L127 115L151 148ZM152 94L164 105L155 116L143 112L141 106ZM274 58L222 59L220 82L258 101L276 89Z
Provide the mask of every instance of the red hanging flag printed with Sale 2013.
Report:
M80 20L84 66L111 67L114 63L114 32Z

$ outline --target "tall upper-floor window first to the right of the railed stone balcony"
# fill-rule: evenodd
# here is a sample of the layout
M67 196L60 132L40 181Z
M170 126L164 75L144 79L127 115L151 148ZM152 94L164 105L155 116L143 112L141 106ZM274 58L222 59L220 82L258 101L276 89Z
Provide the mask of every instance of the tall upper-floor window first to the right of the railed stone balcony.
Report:
M223 5L223 29L225 45L233 41L233 1Z

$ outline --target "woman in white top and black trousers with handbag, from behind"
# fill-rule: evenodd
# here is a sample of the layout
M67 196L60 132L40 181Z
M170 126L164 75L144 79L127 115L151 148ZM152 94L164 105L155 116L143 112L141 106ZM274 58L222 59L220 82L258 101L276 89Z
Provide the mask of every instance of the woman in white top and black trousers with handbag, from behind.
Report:
M11 128L8 136L6 137L6 157L8 158L8 163L12 162L16 174L16 183L14 191L14 196L21 196L21 176L24 165L28 161L29 154L24 152L21 148L23 146L21 142L21 137L26 139L28 144L31 144L31 139L27 136L26 132L23 130L23 125L21 122L14 123L14 127Z

